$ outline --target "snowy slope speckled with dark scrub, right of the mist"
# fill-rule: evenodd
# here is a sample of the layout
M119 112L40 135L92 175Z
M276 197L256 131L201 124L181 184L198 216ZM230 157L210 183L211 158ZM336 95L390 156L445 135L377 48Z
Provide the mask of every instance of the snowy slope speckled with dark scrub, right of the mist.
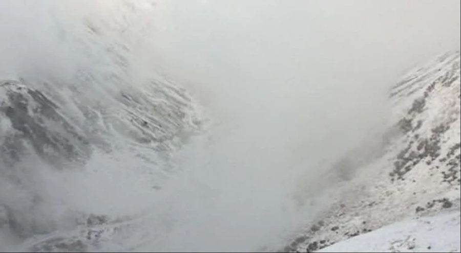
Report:
M455 213L391 225L328 250L411 251L400 247L413 243L407 242L413 238L423 240L437 231L457 229L457 239L450 237L453 240L447 247L437 242L439 237L431 242L437 245L434 250L459 251L460 96L459 51L439 56L404 75L391 89L393 118L383 136L384 147L372 149L368 158L353 157L363 154L361 149L352 151L338 163L334 172L345 170L349 177L343 177L346 181L337 189L321 195L336 200L284 251L317 251L402 219L440 212ZM418 225L426 220L434 227ZM414 234L415 229L422 229L421 234ZM384 238L365 243L376 237ZM413 250L427 246L417 244Z

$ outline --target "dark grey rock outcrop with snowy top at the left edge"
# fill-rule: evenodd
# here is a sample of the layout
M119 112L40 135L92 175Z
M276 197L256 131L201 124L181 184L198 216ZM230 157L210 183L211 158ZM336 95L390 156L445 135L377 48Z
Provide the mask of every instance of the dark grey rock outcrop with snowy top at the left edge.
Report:
M4 158L18 160L25 150L20 140L25 140L41 158L58 167L65 160L82 162L90 157L92 150L86 138L46 95L16 81L0 82L0 91L8 97L8 101L0 101L0 113L4 113L16 130L3 143L0 151Z

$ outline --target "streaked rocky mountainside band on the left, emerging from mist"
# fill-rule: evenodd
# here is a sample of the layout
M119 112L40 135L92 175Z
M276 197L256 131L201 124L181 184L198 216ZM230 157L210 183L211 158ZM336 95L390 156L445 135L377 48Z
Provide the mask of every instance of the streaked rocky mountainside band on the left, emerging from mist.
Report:
M24 155L22 146L28 144L50 164L61 158L87 160L94 147L113 149L114 135L155 151L171 151L181 142L181 131L199 124L191 98L167 81L121 91L109 105L88 99L78 89L68 95L62 89L33 87L25 80L0 83L1 154L8 166Z

